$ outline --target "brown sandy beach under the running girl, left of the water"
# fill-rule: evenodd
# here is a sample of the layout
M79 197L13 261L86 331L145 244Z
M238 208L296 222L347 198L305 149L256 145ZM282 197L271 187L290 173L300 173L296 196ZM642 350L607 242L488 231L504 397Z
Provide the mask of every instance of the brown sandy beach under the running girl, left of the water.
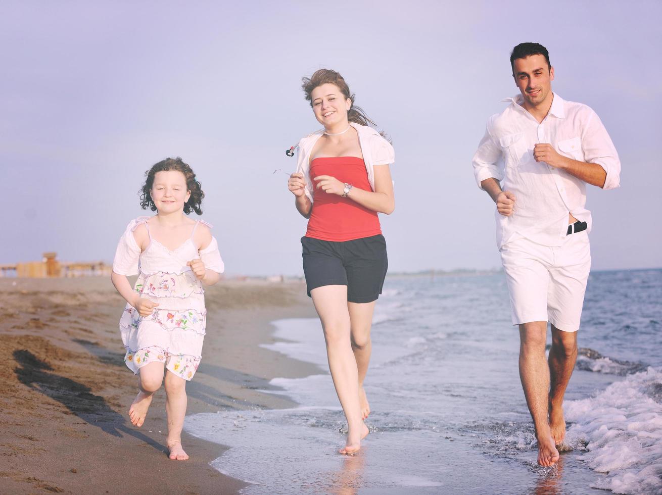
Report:
M270 323L310 317L302 283L222 281L207 288L203 363L187 414L291 406L258 392L273 377L316 372L258 347ZM209 466L226 447L184 433L189 461L170 461L165 392L142 428L126 412L136 378L123 362L124 300L107 278L0 279L0 492L234 493L244 482Z

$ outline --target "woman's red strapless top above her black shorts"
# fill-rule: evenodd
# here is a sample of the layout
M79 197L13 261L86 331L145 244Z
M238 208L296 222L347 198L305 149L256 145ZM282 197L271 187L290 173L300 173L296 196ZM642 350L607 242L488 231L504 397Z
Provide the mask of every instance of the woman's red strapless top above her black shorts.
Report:
M310 181L318 175L330 175L358 189L372 191L362 158L354 156L322 157L310 162ZM350 193L351 195L351 193ZM350 198L315 189L306 237L323 241L351 241L381 234L377 212L363 208Z

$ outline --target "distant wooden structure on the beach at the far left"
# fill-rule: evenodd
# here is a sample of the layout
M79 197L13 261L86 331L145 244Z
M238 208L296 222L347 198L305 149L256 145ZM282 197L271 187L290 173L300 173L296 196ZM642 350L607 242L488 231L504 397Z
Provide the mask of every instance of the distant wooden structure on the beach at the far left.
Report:
M42 261L26 261L15 265L0 265L0 277L46 279L54 277L110 277L113 267L103 261L91 263L58 261L57 253L44 253Z

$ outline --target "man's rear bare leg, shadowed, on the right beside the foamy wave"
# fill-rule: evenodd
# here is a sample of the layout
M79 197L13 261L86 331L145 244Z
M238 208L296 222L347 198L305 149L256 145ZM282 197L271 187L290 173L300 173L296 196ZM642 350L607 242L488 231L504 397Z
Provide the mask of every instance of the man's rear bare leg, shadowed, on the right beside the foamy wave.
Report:
M563 332L551 326L549 349L549 429L556 445L565 439L563 396L577 361L577 332Z

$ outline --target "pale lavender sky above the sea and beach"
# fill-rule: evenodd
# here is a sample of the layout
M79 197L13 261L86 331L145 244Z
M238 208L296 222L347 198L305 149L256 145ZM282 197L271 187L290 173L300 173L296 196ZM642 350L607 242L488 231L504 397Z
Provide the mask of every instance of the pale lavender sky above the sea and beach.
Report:
M11 1L0 5L0 264L111 262L144 173L181 156L229 275L302 275L285 149L320 128L301 91L344 76L393 140L391 271L497 269L471 157L544 44L553 90L591 106L622 162L588 186L593 269L662 267L659 1ZM195 214L193 214L195 216Z

